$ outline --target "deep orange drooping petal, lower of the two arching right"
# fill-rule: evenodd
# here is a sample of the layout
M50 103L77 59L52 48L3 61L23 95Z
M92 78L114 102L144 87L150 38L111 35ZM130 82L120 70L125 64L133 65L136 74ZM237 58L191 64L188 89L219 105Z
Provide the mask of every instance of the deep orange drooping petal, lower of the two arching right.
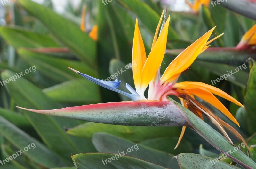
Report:
M227 116L230 120L232 120L239 126L235 117L209 90L204 88L186 88L186 90L192 93L193 95L196 95L197 97L203 99L204 101L210 103L215 108L219 109L225 116Z

